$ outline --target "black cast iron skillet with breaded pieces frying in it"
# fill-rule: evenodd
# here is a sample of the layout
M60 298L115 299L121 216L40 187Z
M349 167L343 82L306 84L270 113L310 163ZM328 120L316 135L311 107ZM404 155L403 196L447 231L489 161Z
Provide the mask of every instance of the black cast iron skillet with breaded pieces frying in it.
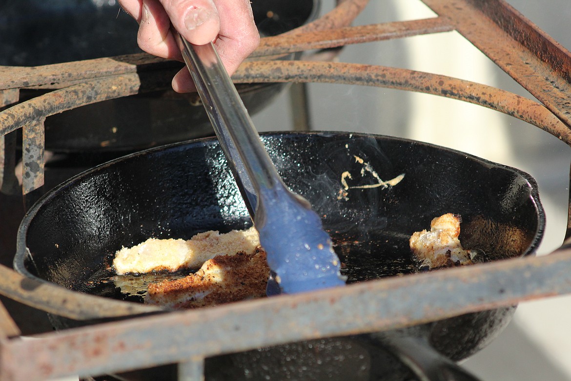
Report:
M482 250L486 260L529 255L540 242L545 222L537 185L519 170L379 135L277 133L262 135L262 140L284 182L323 216L347 264L349 282L416 271L409 236L447 212L462 216L464 247ZM352 188L401 174L404 178L395 186ZM50 191L22 221L14 266L26 276L71 290L123 298L113 283L99 282L109 275L106 264L120 247L149 237L190 238L250 224L216 139L179 143L106 163ZM513 311L509 307L458 316L404 334L423 338L441 354L460 360L494 338ZM57 328L85 324L61 316L51 319ZM371 338L375 346L378 336ZM295 350L313 346L294 345ZM264 353L275 360L282 358L283 349ZM235 364L240 356L247 354L218 360Z

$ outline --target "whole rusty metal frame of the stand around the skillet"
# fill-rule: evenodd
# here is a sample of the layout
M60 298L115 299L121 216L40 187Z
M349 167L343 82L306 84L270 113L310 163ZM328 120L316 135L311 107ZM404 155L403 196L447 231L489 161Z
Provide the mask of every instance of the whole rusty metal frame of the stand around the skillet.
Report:
M435 11L436 18L348 27L339 21L339 15L349 12L354 17L367 1L345 0L315 25L264 39L252 57L262 59L291 51L456 30L520 81L541 103L441 75L331 62L252 60L240 67L235 81L357 83L442 95L512 115L571 144L571 55L568 51L504 1L423 1ZM132 63L134 61L138 64ZM83 63L86 62L9 71L0 68L3 91L26 87L61 89L46 94L39 101L35 98L0 112L0 135L28 125L42 129L42 123L38 122L42 118L74 105L162 86L160 79L176 66L145 55L86 63L91 66L82 66ZM66 95L70 91L77 94L73 101ZM36 156L40 157L38 152ZM34 186L37 183L29 187ZM568 294L571 292L570 250L564 245L538 258L509 259L340 289L143 316L58 334L42 334L33 341L5 334L0 337L0 379L88 376L178 362L180 379L198 380L202 378L204 358L210 355L303 339L388 330L509 306L522 300ZM25 295L22 290L26 287L25 280L7 268L0 270L12 276L13 286L0 286L0 293L10 296L18 291ZM58 294L57 286L42 284L41 287L53 292L51 302L61 303L58 311L65 315L67 295ZM11 335L15 334L17 331L11 331ZM26 367L18 361L23 356L28 359Z

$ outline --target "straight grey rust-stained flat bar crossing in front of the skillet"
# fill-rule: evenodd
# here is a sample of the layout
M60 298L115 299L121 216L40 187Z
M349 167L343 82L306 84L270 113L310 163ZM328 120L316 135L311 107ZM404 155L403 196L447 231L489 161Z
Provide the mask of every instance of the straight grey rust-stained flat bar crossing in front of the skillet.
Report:
M568 249L537 258L75 328L38 335L38 340L28 342L10 339L0 347L0 379L98 375L304 339L411 326L568 294L569 274ZM25 367L18 361L22 358L26 358Z

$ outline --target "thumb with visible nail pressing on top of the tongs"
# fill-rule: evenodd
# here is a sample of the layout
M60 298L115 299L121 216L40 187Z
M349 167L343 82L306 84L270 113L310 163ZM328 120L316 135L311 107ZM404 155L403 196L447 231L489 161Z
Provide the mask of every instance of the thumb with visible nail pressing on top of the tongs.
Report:
M212 0L161 0L172 26L195 45L214 41L220 32L218 10Z

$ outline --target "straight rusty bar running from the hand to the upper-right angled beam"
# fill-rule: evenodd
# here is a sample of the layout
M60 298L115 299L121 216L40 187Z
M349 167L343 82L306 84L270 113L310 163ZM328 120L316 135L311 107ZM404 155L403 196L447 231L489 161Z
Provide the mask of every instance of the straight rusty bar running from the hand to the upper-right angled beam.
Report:
M454 28L448 19L437 17L414 21L389 22L375 25L342 27L305 33L280 34L266 37L250 57L264 57L313 49L326 49L355 43L441 33Z

